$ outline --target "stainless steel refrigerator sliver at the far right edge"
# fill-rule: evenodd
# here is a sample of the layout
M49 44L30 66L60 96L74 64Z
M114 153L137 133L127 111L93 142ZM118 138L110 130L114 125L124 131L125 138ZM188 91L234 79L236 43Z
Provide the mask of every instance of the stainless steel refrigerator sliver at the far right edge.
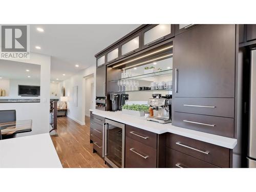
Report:
M256 50L251 51L248 167L256 168Z

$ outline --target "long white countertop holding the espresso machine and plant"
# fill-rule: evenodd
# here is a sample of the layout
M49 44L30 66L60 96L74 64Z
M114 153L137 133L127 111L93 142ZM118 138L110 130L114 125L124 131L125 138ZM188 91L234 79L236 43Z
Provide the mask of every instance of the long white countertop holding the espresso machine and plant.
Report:
M136 117L133 115L122 114L121 111L110 112L110 111L101 111L101 110L90 110L95 115L99 115L101 117L105 117L114 121L118 121L124 124L129 124L131 126L138 127L142 130L150 131L157 134L162 133L173 133L177 135L181 135L184 137L197 139L200 141L204 141L207 143L227 147L234 148L237 145L237 139L223 137L219 135L213 135L209 133L194 131L185 129L182 127L174 126L172 123L161 124L158 122L147 121L144 117Z

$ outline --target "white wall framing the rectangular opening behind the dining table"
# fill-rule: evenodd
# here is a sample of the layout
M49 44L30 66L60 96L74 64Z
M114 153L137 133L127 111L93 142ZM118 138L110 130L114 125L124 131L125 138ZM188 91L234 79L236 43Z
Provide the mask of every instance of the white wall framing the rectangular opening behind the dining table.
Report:
M30 59L17 60L41 65L40 103L0 103L0 110L16 110L17 120L32 119L32 132L18 134L18 136L49 133L49 102L50 102L50 69L51 57L37 53L30 53Z

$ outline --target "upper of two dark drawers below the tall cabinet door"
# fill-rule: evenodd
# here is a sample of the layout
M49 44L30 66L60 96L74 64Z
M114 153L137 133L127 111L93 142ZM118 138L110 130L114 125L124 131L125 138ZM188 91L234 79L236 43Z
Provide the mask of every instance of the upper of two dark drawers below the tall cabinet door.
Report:
M176 112L234 117L233 98L173 98Z

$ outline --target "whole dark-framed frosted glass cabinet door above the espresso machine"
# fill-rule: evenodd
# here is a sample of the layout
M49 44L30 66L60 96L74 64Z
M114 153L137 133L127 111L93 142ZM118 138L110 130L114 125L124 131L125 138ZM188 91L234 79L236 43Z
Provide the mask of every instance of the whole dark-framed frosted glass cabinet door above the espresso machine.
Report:
M174 37L175 25L159 24L150 25L141 31L142 49L158 44L168 38Z

